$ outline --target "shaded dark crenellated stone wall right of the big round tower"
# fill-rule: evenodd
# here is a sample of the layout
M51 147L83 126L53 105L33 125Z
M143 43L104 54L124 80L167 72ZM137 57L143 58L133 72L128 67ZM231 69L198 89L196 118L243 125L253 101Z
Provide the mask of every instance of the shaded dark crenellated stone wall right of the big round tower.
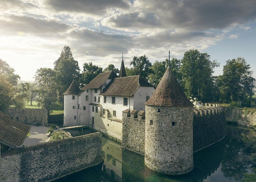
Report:
M226 134L226 121L222 107L194 109L194 152L220 141L226 136Z

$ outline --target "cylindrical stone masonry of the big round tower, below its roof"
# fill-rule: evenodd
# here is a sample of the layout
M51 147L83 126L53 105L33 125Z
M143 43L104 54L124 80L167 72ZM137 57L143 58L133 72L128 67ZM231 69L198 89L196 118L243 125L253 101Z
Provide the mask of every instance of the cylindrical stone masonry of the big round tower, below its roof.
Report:
M145 164L172 175L193 169L193 107L146 105Z

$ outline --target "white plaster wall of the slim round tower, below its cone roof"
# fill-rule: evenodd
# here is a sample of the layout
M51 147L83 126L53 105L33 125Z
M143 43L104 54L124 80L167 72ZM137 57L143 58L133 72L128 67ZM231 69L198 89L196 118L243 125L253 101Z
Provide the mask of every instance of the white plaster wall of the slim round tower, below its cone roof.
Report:
M73 106L76 106L73 109ZM76 116L76 119L74 119ZM78 122L78 95L72 99L72 95L64 95L64 125Z

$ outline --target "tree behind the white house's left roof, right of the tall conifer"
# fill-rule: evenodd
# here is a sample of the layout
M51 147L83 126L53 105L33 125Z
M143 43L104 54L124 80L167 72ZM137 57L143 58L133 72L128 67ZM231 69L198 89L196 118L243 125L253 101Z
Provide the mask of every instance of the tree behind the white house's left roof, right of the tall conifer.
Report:
M93 65L92 62L83 64L82 78L80 79L80 84L82 87L86 86L91 82L98 74L102 72L102 68Z

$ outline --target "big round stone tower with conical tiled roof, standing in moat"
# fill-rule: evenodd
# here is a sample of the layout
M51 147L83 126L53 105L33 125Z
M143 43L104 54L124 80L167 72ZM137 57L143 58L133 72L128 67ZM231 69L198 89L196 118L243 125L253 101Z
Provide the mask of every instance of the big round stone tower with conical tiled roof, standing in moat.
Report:
M169 67L145 105L145 164L159 173L188 173L193 169L193 104Z

